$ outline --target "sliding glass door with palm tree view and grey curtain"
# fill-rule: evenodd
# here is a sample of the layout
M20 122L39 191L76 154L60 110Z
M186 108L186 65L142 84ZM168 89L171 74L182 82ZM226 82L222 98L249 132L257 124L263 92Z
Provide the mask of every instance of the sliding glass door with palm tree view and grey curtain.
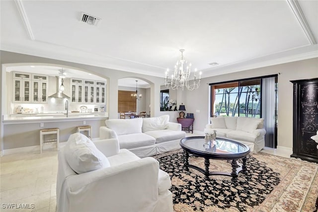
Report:
M278 75L242 79L211 86L211 116L264 118L265 146L277 147Z

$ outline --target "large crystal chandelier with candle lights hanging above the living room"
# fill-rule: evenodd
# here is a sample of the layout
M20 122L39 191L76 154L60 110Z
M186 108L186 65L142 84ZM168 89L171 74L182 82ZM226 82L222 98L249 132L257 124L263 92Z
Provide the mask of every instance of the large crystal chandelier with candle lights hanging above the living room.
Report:
M199 80L197 79L197 69L194 70L194 80L190 84L189 77L191 72L191 63L187 66L187 61L183 59L184 49L180 49L181 59L177 61L174 66L174 73L171 75L171 79L169 79L169 69L165 72L164 85L168 89L176 90L178 88L183 88L184 86L189 90L193 91L194 89L198 89L201 83L201 74L199 73ZM185 68L186 66L186 68Z

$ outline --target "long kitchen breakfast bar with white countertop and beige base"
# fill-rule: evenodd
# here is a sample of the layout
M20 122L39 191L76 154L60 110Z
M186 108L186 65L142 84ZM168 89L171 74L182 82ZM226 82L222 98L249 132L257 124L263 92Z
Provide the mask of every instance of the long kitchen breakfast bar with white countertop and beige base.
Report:
M91 138L99 138L99 127L105 126L108 113L70 113L66 117L63 113L51 113L28 116L4 115L3 123L3 154L19 151L40 152L40 129L60 128L60 143L69 139L77 132L77 126L90 125ZM50 138L50 135L46 135ZM54 136L53 136L54 137Z

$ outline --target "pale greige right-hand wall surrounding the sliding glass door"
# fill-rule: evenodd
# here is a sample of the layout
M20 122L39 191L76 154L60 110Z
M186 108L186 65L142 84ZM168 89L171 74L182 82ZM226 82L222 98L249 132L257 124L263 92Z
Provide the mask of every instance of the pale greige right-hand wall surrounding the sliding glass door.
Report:
M290 81L317 78L318 58L203 78L199 89L186 91L185 105L187 112L192 111L194 113L194 130L203 131L205 125L209 122L209 83L218 83L273 74L279 74L277 145L292 148L293 84ZM200 112L196 112L196 110Z

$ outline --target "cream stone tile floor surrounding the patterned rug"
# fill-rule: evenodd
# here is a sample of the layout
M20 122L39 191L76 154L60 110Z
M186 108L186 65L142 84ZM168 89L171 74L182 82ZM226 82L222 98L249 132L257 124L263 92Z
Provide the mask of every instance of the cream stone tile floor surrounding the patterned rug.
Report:
M187 133L187 136L196 134ZM288 157L286 152L262 152ZM0 158L1 212L55 212L58 152L53 150L5 155ZM3 204L29 204L30 209L5 209ZM32 205L34 204L34 208Z

